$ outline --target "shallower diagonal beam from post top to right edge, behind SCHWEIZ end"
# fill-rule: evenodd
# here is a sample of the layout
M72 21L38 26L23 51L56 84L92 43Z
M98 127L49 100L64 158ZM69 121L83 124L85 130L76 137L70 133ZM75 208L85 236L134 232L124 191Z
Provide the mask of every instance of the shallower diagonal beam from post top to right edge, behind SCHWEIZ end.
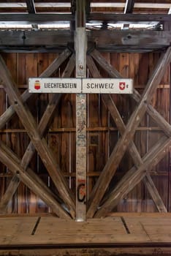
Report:
M98 50L93 50L91 52L93 59L104 69L111 78L122 78L121 74L112 65L110 65L106 59L99 53ZM136 102L140 102L141 96L137 90L133 90L133 94L129 94ZM153 118L154 121L163 129L164 133L170 137L171 136L171 126L170 124L161 116L150 104L147 108L148 114Z

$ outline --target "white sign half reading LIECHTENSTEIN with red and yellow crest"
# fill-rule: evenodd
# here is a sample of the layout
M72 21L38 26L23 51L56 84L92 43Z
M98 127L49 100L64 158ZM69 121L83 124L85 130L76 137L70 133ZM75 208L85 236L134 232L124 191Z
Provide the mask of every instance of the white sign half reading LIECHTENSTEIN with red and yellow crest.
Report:
M31 93L77 94L82 82L79 78L29 78L28 88Z

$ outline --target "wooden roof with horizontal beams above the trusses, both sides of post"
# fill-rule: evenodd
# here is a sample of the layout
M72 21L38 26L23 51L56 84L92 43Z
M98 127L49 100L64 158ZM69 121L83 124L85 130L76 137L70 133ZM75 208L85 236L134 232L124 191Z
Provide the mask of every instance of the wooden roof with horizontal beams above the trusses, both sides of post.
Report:
M88 41L97 49L144 52L170 45L170 0L86 3ZM74 43L75 9L75 0L1 1L0 50L61 52Z

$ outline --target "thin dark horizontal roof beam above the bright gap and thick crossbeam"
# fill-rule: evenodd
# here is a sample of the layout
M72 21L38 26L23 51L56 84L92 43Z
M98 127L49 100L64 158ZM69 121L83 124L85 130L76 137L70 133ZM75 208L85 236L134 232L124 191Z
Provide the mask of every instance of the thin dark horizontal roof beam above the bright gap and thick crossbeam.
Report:
M7 23L7 21L15 22L23 22L23 23L54 23L55 21L71 21L75 20L75 16L67 13L58 13L58 15L54 13L41 13L41 14L23 14L23 13L1 13L0 14L0 23ZM169 21L171 20L170 14L132 14L132 13L93 13L91 12L87 15L86 21L99 20L99 21L108 21L113 23L118 22L144 22L144 21Z

